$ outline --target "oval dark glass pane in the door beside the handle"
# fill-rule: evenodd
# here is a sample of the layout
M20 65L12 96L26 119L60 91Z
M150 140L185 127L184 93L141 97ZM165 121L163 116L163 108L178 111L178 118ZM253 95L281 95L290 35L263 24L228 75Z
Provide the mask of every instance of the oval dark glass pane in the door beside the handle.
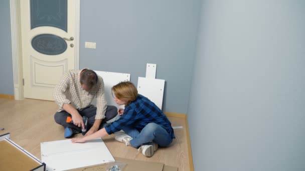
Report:
M43 54L57 55L66 51L67 42L54 34L39 34L32 39L32 47Z

